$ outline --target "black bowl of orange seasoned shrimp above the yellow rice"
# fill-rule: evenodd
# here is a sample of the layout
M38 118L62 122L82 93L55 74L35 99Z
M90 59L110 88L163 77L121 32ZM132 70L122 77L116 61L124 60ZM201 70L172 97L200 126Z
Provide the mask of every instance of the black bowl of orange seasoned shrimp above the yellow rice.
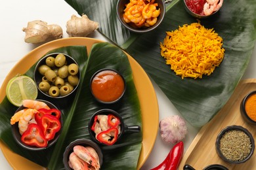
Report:
M139 4L142 0L119 0L116 5L117 18L123 26L135 33L146 33L158 27L165 16L165 3L163 0L151 0L151 3ZM126 8L133 3L132 8ZM138 4L137 4L138 3ZM141 9L135 7L139 5Z

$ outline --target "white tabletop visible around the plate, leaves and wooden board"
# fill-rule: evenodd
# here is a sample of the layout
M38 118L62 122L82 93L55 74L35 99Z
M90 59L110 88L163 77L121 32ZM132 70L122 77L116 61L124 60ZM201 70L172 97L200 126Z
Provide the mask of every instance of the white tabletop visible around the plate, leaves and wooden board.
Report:
M5 1L2 3L0 6L0 85L3 83L3 80L5 80L5 77L9 71L11 71L12 67L22 59L23 56L38 46L24 42L25 33L22 32L22 27L26 27L27 23L32 20L43 20L48 22L48 24L60 25L64 31L63 37L68 37L66 34L66 22L70 20L72 14L77 15L77 12L64 0ZM89 37L105 40L99 33L92 33ZM243 78L256 78L255 64L256 50L253 52L253 56ZM160 120L170 115L179 114L179 111L175 109L171 101L161 92L160 88L154 82L152 83L158 97ZM187 124L187 126L188 135L183 140L184 152L186 152L199 130L189 124ZM161 140L160 133L158 133L154 148L142 169L150 169L161 163L172 147L173 144L164 143ZM0 165L1 169L12 169L2 152L0 152Z

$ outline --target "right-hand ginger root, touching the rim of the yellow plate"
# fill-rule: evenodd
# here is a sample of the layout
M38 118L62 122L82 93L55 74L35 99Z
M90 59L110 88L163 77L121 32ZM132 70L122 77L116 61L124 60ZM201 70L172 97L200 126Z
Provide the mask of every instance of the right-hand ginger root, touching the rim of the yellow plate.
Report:
M89 20L87 15L83 14L81 18L72 15L66 23L69 37L87 37L90 33L98 29L98 22Z

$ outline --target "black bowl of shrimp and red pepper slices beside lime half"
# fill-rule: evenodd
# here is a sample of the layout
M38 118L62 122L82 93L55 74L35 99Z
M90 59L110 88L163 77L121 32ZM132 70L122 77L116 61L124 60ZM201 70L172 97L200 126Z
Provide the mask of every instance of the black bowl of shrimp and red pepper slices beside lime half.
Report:
M44 104L42 105L42 103ZM24 114L24 116L20 116L18 112ZM44 116L46 112L51 116ZM42 122L38 122L37 116ZM44 126L45 129L43 129L41 124L48 124L48 122L51 122L51 126L54 127ZM20 146L28 150L44 150L53 146L60 136L62 112L49 101L26 100L24 105L20 106L12 116L11 124L12 135ZM47 130L48 127L51 128L51 131Z

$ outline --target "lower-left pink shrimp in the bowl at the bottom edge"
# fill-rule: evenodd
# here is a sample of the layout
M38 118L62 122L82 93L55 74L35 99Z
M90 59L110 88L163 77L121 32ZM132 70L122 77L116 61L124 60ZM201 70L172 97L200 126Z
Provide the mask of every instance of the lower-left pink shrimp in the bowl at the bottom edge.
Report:
M74 152L70 154L70 160L68 164L72 169L83 170L88 169L87 163L79 158Z

